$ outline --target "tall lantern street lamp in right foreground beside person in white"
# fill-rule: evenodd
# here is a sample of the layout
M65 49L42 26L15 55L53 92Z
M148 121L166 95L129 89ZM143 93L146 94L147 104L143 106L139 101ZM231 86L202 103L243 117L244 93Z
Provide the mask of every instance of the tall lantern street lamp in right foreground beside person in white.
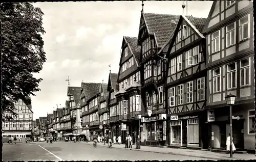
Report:
M236 99L235 95L232 95L231 93L229 93L229 95L227 95L225 97L227 105L229 105L229 112L230 112L230 147L229 147L229 152L230 152L230 157L233 157L233 140L232 140L232 104L234 104L234 100ZM228 147L228 146L227 146Z

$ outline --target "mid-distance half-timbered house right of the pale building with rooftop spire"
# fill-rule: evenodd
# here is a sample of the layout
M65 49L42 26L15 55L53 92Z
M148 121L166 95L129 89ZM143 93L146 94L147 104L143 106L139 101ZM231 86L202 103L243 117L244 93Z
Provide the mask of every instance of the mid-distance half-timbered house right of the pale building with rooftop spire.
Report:
M82 134L92 140L93 131L101 133L99 129L98 96L100 83L81 83L80 106L82 110ZM85 132L84 132L85 130Z

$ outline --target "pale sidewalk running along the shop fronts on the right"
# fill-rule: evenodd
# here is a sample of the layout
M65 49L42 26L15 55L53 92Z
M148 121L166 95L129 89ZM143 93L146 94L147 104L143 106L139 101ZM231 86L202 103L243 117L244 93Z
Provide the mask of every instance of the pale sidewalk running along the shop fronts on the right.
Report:
M93 142L80 142L87 145L93 145ZM109 147L108 144L104 143L97 143L97 146L100 147ZM113 144L112 148L118 148L118 149L125 149L125 145L118 145ZM126 148L126 150L133 150L133 151L144 151L144 152L155 152L155 153L163 153L163 154L172 154L172 155L182 155L182 156L191 156L191 157L200 157L200 158L206 158L206 159L227 159L227 160L250 160L255 159L254 154L233 154L233 157L230 158L229 154L226 153L218 153L218 152L211 152L211 151L203 151L203 150L191 150L191 149L176 149L176 148L159 148L159 147L150 147L150 146L141 146L139 150L136 150L136 145L133 145L133 148Z

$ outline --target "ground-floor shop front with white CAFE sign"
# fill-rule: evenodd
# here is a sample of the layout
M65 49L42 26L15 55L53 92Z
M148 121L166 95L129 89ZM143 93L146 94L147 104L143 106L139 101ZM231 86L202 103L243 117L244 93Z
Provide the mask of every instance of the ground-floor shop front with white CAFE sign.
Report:
M199 117L193 116L170 116L170 146L199 147L200 130Z

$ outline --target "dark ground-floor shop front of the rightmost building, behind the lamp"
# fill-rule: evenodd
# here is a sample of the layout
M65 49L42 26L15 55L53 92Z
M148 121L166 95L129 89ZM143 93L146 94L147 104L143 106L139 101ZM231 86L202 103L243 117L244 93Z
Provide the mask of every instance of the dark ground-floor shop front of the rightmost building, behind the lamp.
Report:
M226 147L226 139L230 133L229 107L218 107L208 110L214 118L208 123L211 131L211 148ZM232 106L232 136L233 144L237 149L254 150L255 147L255 110L253 103Z

